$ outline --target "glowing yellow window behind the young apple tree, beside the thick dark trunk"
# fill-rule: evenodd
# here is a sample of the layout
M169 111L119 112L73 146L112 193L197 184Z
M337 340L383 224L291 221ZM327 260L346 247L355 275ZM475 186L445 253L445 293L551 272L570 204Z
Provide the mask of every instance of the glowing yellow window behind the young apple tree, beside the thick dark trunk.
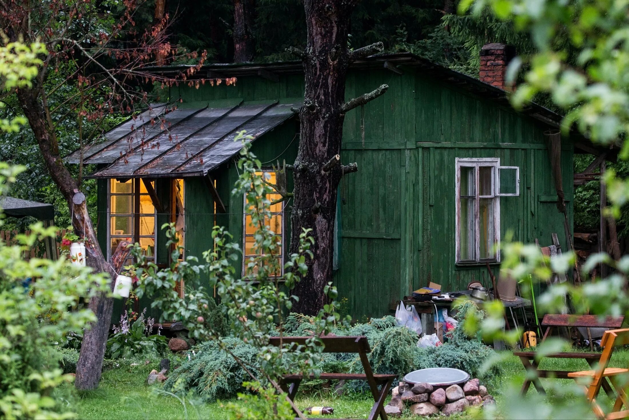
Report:
M264 179L266 179L269 183L276 183L276 174L272 171L263 171L257 172L258 175L264 174ZM271 193L267 195L267 198L272 202L281 198L281 195L277 193ZM284 213L282 212L282 206L284 203L273 204L270 207L270 219L265 217L264 224L269 226L272 232L279 236L282 246L279 249L279 253L277 253L276 258L278 259L279 272L275 273L277 276L282 275L282 271L284 270L284 259L282 258L283 248L284 248ZM247 206L247 197L245 197L245 206ZM244 219L245 226L243 231L245 232L245 258L243 258L243 275L255 275L257 273L257 266L250 268L248 267L249 259L253 256L259 256L260 253L255 250L255 230L257 230L257 226L253 226L251 216L245 213Z

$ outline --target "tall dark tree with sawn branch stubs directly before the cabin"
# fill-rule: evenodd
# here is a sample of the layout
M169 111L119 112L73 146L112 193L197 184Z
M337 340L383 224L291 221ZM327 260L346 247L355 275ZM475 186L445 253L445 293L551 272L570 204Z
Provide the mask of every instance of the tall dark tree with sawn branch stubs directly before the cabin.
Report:
M350 51L350 15L359 0L304 0L308 42L305 50L290 48L304 66L304 104L298 156L293 166L294 203L291 215L291 253L298 252L299 235L312 229L314 258L308 274L295 288L299 302L293 310L316 314L326 302L323 288L332 278L334 220L341 178L357 171L357 164L341 165L340 150L345 113L385 93L381 85L371 93L345 102L345 77L350 62L381 52L382 42Z

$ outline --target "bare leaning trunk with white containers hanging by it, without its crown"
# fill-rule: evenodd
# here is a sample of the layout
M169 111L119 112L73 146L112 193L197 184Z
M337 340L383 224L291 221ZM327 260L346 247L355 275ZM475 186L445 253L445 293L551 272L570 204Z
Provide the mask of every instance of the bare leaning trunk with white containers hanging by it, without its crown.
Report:
M78 184L64 166L59 155L57 140L48 130L46 113L38 99L37 91L18 89L18 101L42 151L50 176L72 211L74 232L79 237L85 238L87 265L94 268L96 272L108 273L112 279L116 278L116 274L122 268L123 261L129 253L128 244L121 242L118 246L112 256L113 265L106 261L98 244L92 220L87 213L86 197L79 191ZM113 281L111 281L111 287L113 290ZM86 329L83 336L75 380L75 386L78 389L93 389L97 387L101 378L105 345L111 325L113 298L98 295L90 300L88 307L96 314L97 321Z

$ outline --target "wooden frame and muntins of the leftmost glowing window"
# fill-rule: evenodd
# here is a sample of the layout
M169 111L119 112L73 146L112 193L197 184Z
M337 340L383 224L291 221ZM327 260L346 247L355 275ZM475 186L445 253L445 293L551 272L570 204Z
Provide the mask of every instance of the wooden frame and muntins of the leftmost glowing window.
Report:
M111 193L111 179L107 180L107 259L111 258L111 239L116 237L131 237L133 242L140 242L140 237L152 237L153 238L153 248L155 249L155 253L153 256L148 257L148 259L152 259L154 263L157 262L157 207L153 205L153 223L155 226L153 227L153 235L142 235L140 236L140 217L141 216L150 216L150 213L140 213L140 183L142 179L140 178L132 178L132 188L131 193ZM157 190L157 183L155 185L155 190ZM111 196L120 195L120 196L131 196L133 201L133 212L131 213L112 213L111 212ZM133 225L133 232L131 235L112 235L111 234L111 218L116 215L122 217L131 217L131 223Z

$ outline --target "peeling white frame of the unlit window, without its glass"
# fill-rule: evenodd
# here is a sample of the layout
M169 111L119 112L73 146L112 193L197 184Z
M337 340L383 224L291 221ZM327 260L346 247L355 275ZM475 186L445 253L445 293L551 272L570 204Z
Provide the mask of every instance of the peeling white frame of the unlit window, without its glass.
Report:
M455 159L455 190L456 190L456 214L455 214L455 263L456 264L484 264L484 263L499 263L500 262L500 195L498 195L498 168L500 166L500 158L499 157L457 157ZM492 166L494 167L493 171L493 185L491 196L481 196L479 190L479 167L480 166ZM460 197L460 168L461 167L475 167L475 188L474 188L474 259L461 259L461 249L460 249L460 238L461 238L461 197ZM519 171L518 171L518 179L519 179ZM518 183L519 184L519 183ZM519 192L519 191L518 191ZM494 204L494 244L496 246L496 256L495 258L479 258L480 249L481 249L481 230L480 230L480 217L479 217L479 207L481 198L493 198Z

